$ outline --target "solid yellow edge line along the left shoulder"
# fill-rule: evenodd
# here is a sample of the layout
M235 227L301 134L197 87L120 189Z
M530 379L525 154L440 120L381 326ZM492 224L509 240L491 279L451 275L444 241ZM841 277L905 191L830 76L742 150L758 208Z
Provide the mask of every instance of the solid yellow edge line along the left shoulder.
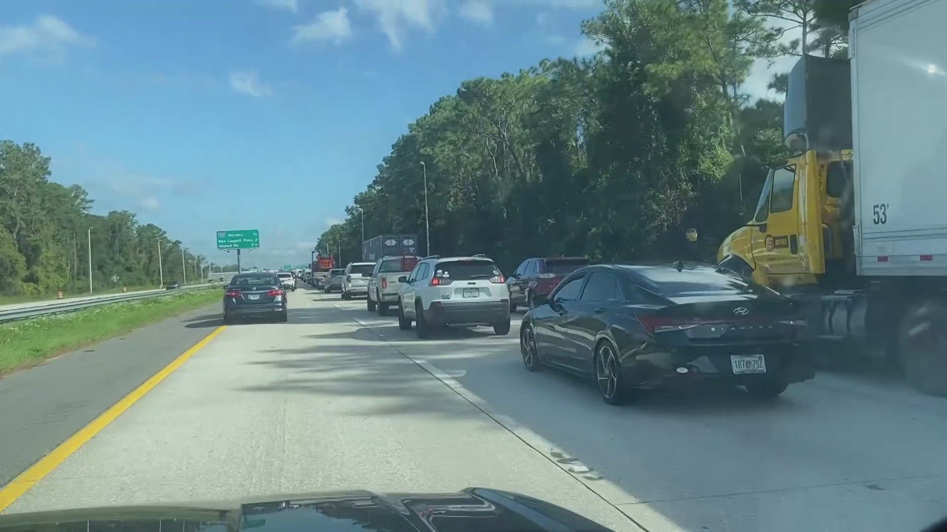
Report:
M51 452L46 454L43 458L40 458L40 461L33 464L28 470L23 471L16 478L11 480L7 486L0 488L0 511L3 511L7 506L13 504L21 495L27 492L29 488L32 488L37 482L39 482L47 474L55 470L60 464L63 463L63 460L69 457L70 454L79 450L85 442L92 439L92 436L98 434L99 431L104 429L109 423L111 423L116 417L121 416L122 412L128 410L130 406L138 399L144 397L149 391L152 390L158 382L163 381L168 377L175 369L181 367L182 364L188 362L188 359L194 355L194 353L201 350L202 347L206 346L215 336L221 333L224 328L227 328L225 325L222 325L218 328L215 328L213 332L205 336L203 340L189 348L187 351L178 355L176 359L170 362L170 364L161 368L160 371L152 375L148 381L144 381L137 388L132 390L127 396L122 399L119 399L118 402L109 407L108 410L103 412L101 416L96 417L89 422L88 425L82 427L79 432L69 436L69 439L63 441L56 449L53 449Z

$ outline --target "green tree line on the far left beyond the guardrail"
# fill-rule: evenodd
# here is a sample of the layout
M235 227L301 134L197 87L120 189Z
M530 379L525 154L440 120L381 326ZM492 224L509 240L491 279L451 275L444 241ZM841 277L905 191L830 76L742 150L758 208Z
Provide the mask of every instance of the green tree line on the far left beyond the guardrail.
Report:
M78 185L49 180L49 157L30 143L0 141L0 293L42 294L157 287L200 277L204 257L184 249L164 229L142 224L134 213L90 212L93 201ZM182 262L182 250L184 262Z

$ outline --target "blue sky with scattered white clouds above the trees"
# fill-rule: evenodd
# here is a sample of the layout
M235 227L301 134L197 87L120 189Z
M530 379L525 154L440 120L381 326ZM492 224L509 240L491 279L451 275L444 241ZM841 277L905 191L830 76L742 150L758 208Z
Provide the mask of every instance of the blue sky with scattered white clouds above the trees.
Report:
M408 123L462 80L587 55L599 0L32 0L0 23L0 138L93 211L211 261L304 263ZM761 78L760 78L761 79ZM763 81L763 85L765 82ZM279 191L282 191L280 196Z

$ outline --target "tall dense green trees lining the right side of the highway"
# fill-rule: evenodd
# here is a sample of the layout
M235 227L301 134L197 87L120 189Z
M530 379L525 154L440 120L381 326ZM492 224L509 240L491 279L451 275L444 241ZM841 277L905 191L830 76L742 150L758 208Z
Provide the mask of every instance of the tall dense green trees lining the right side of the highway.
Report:
M507 273L535 256L712 259L786 155L782 103L742 93L751 66L845 57L854 3L605 0L581 26L604 45L595 57L463 81L408 126L318 248L360 258L364 212L366 237L418 233L422 251L486 253Z

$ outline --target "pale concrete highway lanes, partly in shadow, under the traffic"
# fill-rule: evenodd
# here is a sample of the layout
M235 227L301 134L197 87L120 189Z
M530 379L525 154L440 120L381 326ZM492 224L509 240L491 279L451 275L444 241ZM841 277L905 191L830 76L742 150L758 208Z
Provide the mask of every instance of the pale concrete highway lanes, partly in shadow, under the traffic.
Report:
M420 341L362 299L290 297L288 324L224 328L7 511L482 486L616 530L886 532L947 515L947 399L900 381L820 373L775 401L734 390L616 408L590 382L527 372L520 312L509 336L469 328ZM212 310L141 329L117 349L173 358L221 323ZM176 351L149 346L161 327L190 336ZM132 365L116 379L134 387L145 368ZM31 382L38 397L44 382L53 380ZM19 419L30 434L29 417ZM0 463L25 460L4 443Z

